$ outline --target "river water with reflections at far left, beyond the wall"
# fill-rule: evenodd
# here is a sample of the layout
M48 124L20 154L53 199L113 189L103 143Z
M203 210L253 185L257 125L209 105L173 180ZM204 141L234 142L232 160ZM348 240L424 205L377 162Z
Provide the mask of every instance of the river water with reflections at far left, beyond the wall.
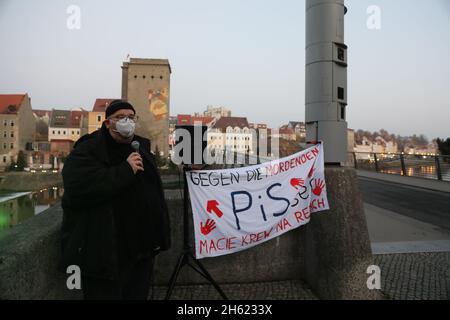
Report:
M46 188L33 192L0 193L0 232L40 214L59 202L64 189Z

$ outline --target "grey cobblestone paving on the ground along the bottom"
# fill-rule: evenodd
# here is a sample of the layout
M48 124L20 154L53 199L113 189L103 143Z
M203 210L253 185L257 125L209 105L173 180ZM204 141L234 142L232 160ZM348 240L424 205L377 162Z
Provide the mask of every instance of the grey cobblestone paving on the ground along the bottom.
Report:
M394 300L450 300L450 252L376 255L381 268L381 291ZM301 281L227 284L222 290L233 300L316 300ZM155 287L154 299L162 300L167 287ZM173 300L216 300L211 285L176 286Z

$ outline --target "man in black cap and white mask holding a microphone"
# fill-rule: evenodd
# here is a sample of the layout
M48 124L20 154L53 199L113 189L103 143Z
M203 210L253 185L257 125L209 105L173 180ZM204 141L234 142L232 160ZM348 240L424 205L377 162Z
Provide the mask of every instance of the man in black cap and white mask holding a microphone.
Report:
M60 267L80 267L85 299L147 299L154 257L170 246L161 178L136 121L131 104L113 101L64 163Z

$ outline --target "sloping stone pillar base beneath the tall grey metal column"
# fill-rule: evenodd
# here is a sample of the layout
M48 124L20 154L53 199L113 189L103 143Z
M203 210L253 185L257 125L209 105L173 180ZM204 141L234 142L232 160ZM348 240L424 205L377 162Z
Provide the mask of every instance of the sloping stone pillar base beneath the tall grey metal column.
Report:
M322 299L377 299L367 288L374 264L364 208L353 168L326 167L329 211L315 213L300 237L302 278Z

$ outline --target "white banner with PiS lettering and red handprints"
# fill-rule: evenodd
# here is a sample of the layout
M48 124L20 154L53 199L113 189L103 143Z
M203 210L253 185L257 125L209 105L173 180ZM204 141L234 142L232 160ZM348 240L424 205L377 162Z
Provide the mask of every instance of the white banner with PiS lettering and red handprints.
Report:
M186 172L198 259L242 251L329 209L323 145L260 165Z

